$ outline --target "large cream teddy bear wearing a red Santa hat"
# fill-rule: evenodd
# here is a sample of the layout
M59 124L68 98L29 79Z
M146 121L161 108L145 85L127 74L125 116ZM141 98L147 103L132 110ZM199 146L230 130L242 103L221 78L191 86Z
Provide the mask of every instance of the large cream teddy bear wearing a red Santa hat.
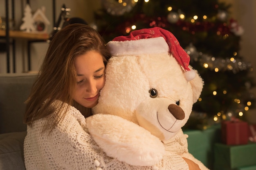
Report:
M186 157L208 170L188 152L182 132L203 81L175 36L159 27L141 29L107 47L112 57L106 83L94 115L86 119L96 143L108 156L134 166L168 161L173 170L188 170Z

